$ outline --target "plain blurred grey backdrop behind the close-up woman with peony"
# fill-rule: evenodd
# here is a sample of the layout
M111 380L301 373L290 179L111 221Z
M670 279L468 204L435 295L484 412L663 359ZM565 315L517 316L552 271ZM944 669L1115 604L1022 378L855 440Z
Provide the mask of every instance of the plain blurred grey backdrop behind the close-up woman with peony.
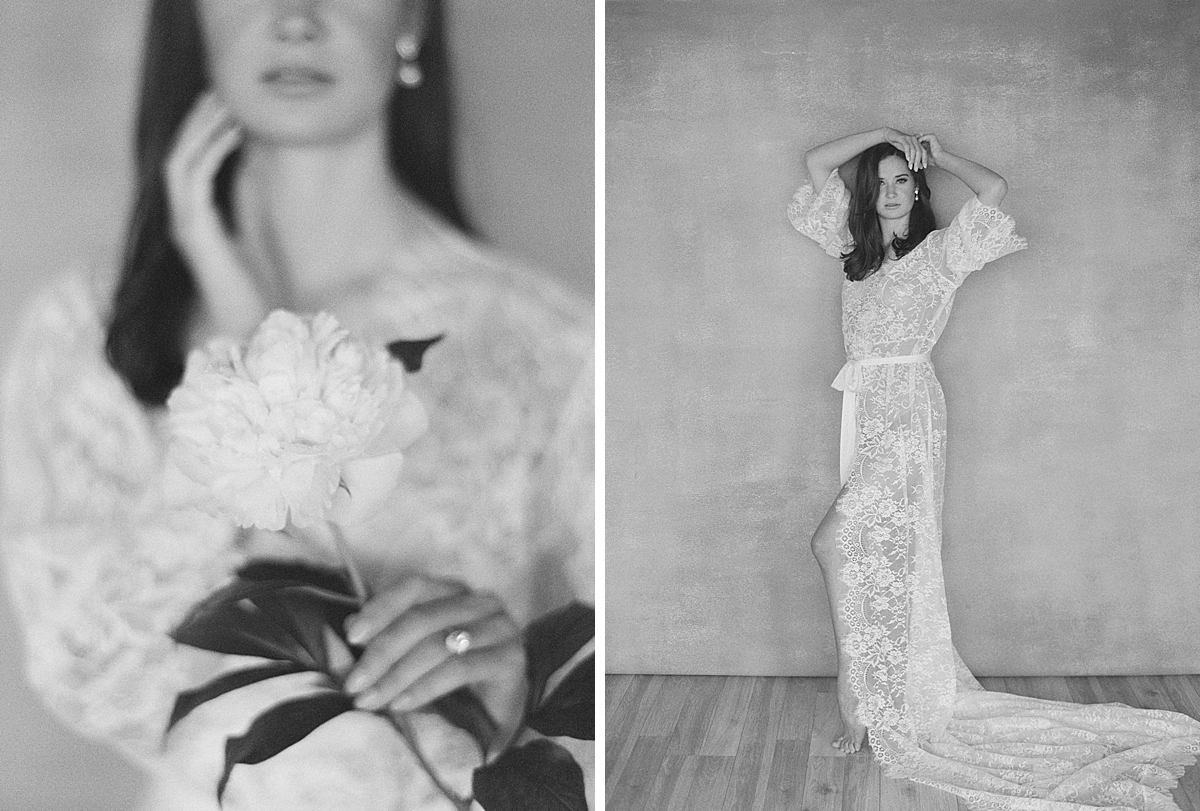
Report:
M0 5L0 349L48 278L115 256L128 209L144 0ZM592 295L590 5L446 0L468 211L509 253ZM140 777L25 686L0 597L0 809L127 809Z

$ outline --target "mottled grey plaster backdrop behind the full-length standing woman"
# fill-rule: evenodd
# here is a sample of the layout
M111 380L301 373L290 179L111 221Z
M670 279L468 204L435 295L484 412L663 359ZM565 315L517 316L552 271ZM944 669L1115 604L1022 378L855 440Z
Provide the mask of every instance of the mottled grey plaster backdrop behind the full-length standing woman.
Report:
M934 354L955 644L1200 671L1200 6L606 13L607 669L834 674L842 277L785 208L805 149L887 125L1004 175L1030 241ZM970 192L931 182L944 226Z

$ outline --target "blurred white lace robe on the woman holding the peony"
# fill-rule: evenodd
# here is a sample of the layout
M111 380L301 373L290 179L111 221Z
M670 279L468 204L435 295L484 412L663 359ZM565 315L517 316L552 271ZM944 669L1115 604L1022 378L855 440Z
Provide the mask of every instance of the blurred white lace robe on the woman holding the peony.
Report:
M34 301L18 332L4 389L10 591L29 678L47 704L152 771L146 809L215 811L224 738L304 692L308 677L228 693L164 744L179 691L247 663L176 645L167 633L248 557L337 558L163 506L163 410L139 406L103 358L103 287L62 278ZM458 578L500 595L520 623L571 597L592 601L593 337L584 306L439 230L325 308L379 343L445 335L409 378L431 428L406 451L394 505L347 528L373 585L406 569ZM449 727L426 726L431 756L467 791L476 764L469 746ZM590 775L590 745L575 751ZM224 803L227 811L448 807L392 729L365 713L328 722L271 761L236 767Z

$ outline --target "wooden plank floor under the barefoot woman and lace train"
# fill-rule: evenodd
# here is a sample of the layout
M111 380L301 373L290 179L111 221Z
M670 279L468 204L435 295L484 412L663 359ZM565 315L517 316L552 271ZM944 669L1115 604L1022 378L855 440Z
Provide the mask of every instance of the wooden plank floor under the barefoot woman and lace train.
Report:
M1121 702L1200 719L1200 675L980 679L989 690ZM833 679L608 675L607 811L967 811L944 792L890 780L840 728ZM1174 795L1200 811L1200 769Z

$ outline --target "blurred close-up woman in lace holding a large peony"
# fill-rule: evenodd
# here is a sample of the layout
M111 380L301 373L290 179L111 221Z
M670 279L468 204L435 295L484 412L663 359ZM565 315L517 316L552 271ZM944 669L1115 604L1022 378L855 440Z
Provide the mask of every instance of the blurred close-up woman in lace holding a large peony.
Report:
M143 70L119 280L53 286L6 382L4 530L32 683L152 771L146 807L216 807L226 737L302 685L236 691L163 740L174 697L233 663L167 633L245 560L323 551L168 509L162 407L209 337L325 310L380 344L442 336L410 378L430 431L394 503L348 529L373 596L350 618L365 653L347 686L404 710L469 686L514 729L521 627L593 594L592 328L463 234L438 2L155 0ZM449 734L431 746L457 762ZM235 769L226 807L449 806L385 723L350 713Z

